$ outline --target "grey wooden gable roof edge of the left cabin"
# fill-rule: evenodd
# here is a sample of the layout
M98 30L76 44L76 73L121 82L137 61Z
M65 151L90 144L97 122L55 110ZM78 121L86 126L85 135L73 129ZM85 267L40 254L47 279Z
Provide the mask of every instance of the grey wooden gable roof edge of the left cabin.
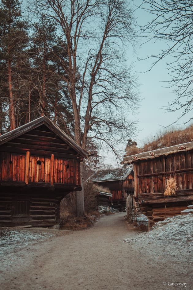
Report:
M0 136L0 145L9 142L10 140L21 136L24 133L27 133L30 130L36 129L37 127L45 125L52 132L54 132L59 138L61 138L64 142L66 142L70 147L72 147L77 153L79 153L82 157L88 158L88 153L76 143L70 136L64 133L57 125L55 125L50 119L46 116L42 116L33 120L21 127L18 127L8 133L5 133Z

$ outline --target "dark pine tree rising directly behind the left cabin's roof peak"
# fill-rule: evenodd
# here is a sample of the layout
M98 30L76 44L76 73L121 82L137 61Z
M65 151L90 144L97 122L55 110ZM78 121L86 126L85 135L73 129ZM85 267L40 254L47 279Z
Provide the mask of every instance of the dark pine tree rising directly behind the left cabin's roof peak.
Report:
M47 115L62 130L73 135L74 119L70 97L63 80L66 63L66 44L57 36L54 21L34 23L31 48L33 87L31 111L33 118Z

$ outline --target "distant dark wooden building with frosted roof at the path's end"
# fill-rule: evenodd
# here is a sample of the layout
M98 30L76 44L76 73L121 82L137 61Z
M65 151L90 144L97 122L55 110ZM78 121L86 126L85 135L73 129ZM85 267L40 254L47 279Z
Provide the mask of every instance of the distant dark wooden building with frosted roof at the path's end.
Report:
M134 172L132 168L99 170L89 178L89 181L109 188L112 192L112 197L109 199L110 206L120 211L123 207L126 207L127 194L134 194Z

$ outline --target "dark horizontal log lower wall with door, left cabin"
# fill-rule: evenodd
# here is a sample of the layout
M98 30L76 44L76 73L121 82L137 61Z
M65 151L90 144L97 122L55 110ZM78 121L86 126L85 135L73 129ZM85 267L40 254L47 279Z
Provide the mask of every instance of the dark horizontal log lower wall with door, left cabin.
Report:
M54 225L59 222L59 203L63 196L53 198L45 195L0 195L0 226L11 224ZM29 207L22 209L24 202ZM24 211L26 210L26 212Z

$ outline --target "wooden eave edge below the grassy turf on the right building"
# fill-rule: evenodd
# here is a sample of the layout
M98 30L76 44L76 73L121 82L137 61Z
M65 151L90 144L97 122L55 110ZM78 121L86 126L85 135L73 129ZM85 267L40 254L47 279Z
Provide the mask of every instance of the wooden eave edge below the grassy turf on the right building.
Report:
M132 163L138 160L151 159L151 158L155 158L155 157L159 157L163 155L170 155L173 153L188 151L192 149L193 149L193 142L182 143L182 144L178 144L178 145L174 145L170 147L165 147L165 148L161 148L157 150L139 153L136 155L126 156L126 157L123 157L123 161L121 163L122 164Z

